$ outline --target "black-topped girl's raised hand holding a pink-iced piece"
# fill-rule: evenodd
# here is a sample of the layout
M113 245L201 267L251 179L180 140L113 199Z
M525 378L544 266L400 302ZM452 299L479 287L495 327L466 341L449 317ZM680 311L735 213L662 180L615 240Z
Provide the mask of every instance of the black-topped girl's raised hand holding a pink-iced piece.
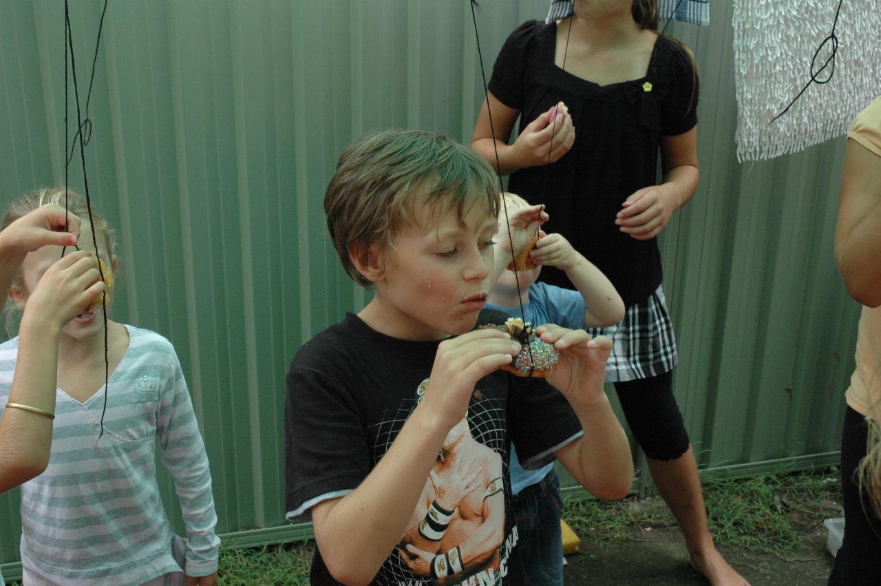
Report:
M575 142L572 116L556 105L529 122L512 145L517 166L538 167L556 163ZM550 159L548 152L550 151Z

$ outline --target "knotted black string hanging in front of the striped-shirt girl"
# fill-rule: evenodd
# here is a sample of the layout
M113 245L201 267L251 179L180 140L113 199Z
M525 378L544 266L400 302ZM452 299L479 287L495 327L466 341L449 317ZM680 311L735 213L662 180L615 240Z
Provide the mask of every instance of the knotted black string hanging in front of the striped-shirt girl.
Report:
M101 21L98 29L98 41L95 43L95 58L92 62L92 79L89 82L89 95L92 94L92 82L95 78L95 62L98 59L98 47L101 41L101 28L104 26L104 14L107 12L107 0L104 0L104 11L101 12ZM85 170L85 145L88 143L88 138L83 136L83 124L84 122L80 119L80 106L79 106L79 87L77 84L77 63L73 52L73 32L70 28L70 5L68 4L68 0L64 0L64 36L66 37L65 41L65 52L64 52L64 137L67 139L67 93L68 93L68 84L67 84L67 52L70 51L70 77L73 78L73 96L76 100L77 105L77 134L73 137L74 144L79 143L79 159L80 163L83 167L83 185L85 187L85 207L88 210L89 214L89 226L92 228L92 244L95 248L95 256L100 259L100 251L98 249L98 237L95 234L95 223L92 217L92 197L89 194L89 180ZM88 106L86 106L86 114L88 113ZM91 128L91 123L90 123ZM89 131L89 137L91 137L91 130ZM71 148L71 155L73 149ZM64 145L64 154L67 155L67 144ZM68 172L67 167L70 164L70 158L66 160L64 163L64 214L65 218L68 214L67 210L67 179ZM110 251L108 250L109 254ZM102 267L100 261L98 263L98 272L100 274L100 278L105 283L107 282L104 278L104 268ZM104 294L101 297L101 313L104 318L104 408L101 411L101 420L100 420L100 434L98 435L98 439L101 439L101 436L104 435L104 415L107 413L107 382L109 382L110 378L110 360L107 351L107 295L108 292L105 290Z

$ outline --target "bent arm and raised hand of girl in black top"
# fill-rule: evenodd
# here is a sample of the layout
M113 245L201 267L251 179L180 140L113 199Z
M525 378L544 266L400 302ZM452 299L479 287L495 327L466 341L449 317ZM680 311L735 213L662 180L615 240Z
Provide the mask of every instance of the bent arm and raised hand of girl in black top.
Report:
M517 116L520 115L520 110L507 107L492 93L488 95L489 104L492 105L492 126L490 126L489 110L486 107L487 101L484 100L474 133L471 135L471 148L486 159L493 169L496 168L496 151L498 151L501 174L512 174L522 168L555 163L574 145L575 129L572 125L572 116L558 112L556 105L529 122L514 145L508 145L507 140L511 137L511 130L514 128ZM551 118L552 115L555 120Z

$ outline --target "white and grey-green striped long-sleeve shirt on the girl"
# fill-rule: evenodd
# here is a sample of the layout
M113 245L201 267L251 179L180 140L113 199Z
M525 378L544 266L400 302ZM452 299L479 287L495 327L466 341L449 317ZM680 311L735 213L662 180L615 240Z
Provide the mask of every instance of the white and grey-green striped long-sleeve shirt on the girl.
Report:
M130 344L104 389L85 403L56 389L47 470L21 486L21 559L36 583L139 584L179 571L156 482L155 446L174 478L187 527L186 572L217 570L211 474L174 347L126 326ZM19 338L0 345L0 413Z

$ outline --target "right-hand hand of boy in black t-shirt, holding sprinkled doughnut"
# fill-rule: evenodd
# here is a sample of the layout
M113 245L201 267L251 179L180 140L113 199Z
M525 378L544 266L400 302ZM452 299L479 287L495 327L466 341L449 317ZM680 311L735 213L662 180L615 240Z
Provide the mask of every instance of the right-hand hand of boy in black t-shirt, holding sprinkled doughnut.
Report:
M552 323L538 327L536 333L559 350L559 362L547 375L547 382L570 403L590 405L603 396L611 339L591 339L584 330L568 330Z

